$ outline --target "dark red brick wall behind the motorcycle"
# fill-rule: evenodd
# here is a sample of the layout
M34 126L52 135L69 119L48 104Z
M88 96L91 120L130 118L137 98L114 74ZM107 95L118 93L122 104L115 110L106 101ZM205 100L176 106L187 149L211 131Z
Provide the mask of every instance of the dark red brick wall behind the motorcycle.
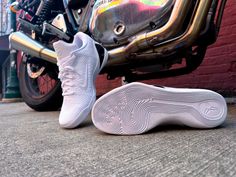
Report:
M207 50L201 66L188 75L147 81L172 87L212 89L225 95L236 95L236 1L228 0L217 42ZM117 86L121 80L97 79L98 95Z

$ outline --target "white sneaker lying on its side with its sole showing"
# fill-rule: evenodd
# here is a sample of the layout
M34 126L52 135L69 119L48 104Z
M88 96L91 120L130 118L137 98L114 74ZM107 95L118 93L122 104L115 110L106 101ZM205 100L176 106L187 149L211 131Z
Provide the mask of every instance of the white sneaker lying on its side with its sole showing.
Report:
M224 98L204 89L178 89L131 83L100 97L92 109L94 125L110 134L141 134L160 124L213 128L227 115Z

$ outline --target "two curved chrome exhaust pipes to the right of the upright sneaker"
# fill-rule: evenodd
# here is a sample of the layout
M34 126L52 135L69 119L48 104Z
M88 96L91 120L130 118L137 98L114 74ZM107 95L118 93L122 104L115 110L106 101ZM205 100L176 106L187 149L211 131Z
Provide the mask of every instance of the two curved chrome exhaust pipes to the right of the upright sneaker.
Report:
M155 45L159 44L160 41L158 41L158 39L163 40L162 36L170 34L168 35L168 37L170 37L171 35L173 35L174 33L170 33L170 30L173 30L173 28L176 29L181 27L181 22L183 22L183 20L181 19L180 22L179 18L185 18L185 14L182 13L187 13L185 9L186 7L188 7L187 4L185 4L187 2L189 1L176 1L168 23L162 28L149 32L147 34L139 35L133 42L131 42L127 46L122 46L109 51L111 60L108 61L108 64L106 66L117 64L119 65L125 62L127 63L129 61L129 55L131 53L139 52L140 50L145 51L145 53L148 53L150 55L152 53L154 53L154 55L162 55L164 53L173 52L177 48L191 46L201 32L201 28L211 7L212 0L199 0L196 13L193 17L193 21L190 24L190 27L187 29L186 33L184 33L179 38L175 38L174 40L171 40L169 42L163 42L163 44L158 45L158 47L155 47L155 49L148 50L148 47L153 48Z

